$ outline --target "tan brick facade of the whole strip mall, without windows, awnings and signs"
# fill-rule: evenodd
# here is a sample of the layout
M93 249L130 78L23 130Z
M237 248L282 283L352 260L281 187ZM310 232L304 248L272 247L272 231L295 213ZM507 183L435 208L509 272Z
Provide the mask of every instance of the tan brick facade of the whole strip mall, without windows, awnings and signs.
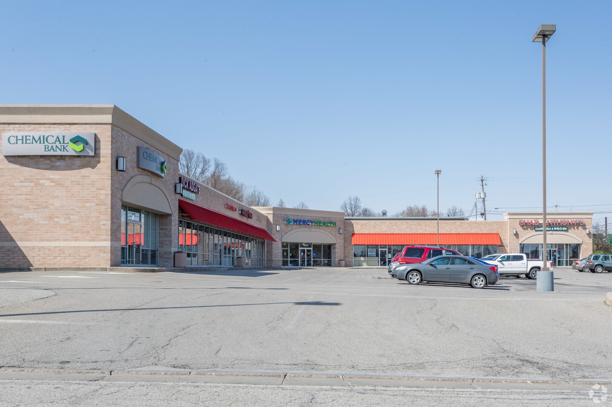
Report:
M4 105L0 106L0 133L3 132L93 132L95 156L0 156L0 267L120 265L121 206L126 204L122 197L130 182L133 184L137 179L156 185L154 188L162 191L166 200L168 212L150 209L144 199L126 204L160 214L162 267L173 266L174 251L178 248L179 199L266 229L276 240L265 243L267 267L282 265L282 242L295 242L295 231L312 232L302 234L312 238L307 243L335 242L332 265L337 267L344 259L346 267L352 267L354 233L435 233L437 229L433 218L345 218L343 212L252 208L206 185L201 185L195 201L187 200L174 193L182 149L113 105ZM165 178L136 167L139 146L164 157ZM127 158L125 172L116 170L119 156ZM248 209L253 218L226 209L226 204ZM553 226L567 227L567 231L547 233L547 242L580 242L580 256L590 254L592 215L592 212L547 214ZM335 226L287 225L288 217L335 222ZM520 225L520 220L527 220L527 225ZM510 212L504 214L504 220L477 222L441 218L440 232L499 234L499 252L512 253L520 251L525 240L541 242L541 235L535 232L535 225L529 225L529 220L541 222L541 214ZM572 220L581 220L582 224Z

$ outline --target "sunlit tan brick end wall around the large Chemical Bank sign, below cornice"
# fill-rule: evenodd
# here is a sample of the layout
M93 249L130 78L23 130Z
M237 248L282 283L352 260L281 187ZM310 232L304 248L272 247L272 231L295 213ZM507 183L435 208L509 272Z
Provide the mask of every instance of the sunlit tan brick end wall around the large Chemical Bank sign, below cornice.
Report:
M0 267L110 262L110 125L0 123L57 131L94 132L95 156L0 156Z

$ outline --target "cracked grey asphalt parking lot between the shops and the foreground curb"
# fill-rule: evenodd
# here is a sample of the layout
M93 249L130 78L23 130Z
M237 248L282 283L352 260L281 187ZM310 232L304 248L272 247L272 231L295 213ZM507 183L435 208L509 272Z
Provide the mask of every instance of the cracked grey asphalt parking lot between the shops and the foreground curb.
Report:
M381 269L1 273L0 365L610 381L612 273L555 278L541 293Z

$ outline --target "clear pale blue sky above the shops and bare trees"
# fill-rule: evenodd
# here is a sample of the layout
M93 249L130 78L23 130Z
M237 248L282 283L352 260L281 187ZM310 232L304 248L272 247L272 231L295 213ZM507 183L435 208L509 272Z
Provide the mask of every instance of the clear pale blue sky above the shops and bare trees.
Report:
M610 1L23 1L0 12L0 103L116 104L274 203L336 210L358 195L390 213L435 208L436 169L441 211L469 211L480 175L487 209L541 208L531 36L557 24L548 204L612 212Z

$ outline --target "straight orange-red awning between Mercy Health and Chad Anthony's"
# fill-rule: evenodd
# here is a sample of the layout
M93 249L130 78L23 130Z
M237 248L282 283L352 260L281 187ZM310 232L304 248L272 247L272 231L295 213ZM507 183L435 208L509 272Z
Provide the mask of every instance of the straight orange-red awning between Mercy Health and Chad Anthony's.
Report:
M353 233L354 245L435 245L435 233ZM441 233L441 245L501 245L499 233Z

